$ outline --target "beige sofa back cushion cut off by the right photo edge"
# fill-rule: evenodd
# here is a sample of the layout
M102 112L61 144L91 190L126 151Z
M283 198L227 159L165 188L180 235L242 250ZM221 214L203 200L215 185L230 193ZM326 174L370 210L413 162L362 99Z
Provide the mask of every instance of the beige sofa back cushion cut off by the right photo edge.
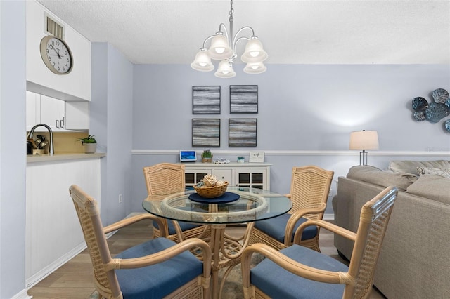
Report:
M418 180L406 189L406 193L450 204L450 178L440 175L420 175Z

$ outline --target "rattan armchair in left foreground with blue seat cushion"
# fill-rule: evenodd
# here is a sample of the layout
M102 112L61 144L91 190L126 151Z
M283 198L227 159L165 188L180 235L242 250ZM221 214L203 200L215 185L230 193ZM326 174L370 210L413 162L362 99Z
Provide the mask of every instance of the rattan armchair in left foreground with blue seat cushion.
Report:
M160 237L112 258L106 233L143 219L160 219L144 213L103 227L96 200L77 185L70 186L69 192L91 255L100 298L210 298L212 253L205 241L192 238L176 244ZM189 252L191 248L201 248L203 262Z

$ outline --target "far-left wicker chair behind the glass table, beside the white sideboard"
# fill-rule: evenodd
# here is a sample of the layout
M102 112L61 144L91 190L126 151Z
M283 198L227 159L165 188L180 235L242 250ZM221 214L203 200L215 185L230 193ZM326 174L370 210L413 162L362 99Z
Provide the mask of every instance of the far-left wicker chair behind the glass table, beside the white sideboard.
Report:
M143 167L143 176L146 180L148 199L162 200L174 192L183 192L186 188L183 164L160 163ZM178 243L184 239L210 237L211 229L207 225L198 225L191 222L162 219L165 236ZM160 226L153 222L153 236L162 235Z

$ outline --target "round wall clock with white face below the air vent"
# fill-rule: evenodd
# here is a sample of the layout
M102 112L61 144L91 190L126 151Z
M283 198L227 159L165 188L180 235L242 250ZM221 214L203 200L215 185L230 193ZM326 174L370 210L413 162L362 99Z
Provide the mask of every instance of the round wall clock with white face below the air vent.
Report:
M62 39L48 35L41 39L41 58L55 74L69 74L73 67L70 48Z

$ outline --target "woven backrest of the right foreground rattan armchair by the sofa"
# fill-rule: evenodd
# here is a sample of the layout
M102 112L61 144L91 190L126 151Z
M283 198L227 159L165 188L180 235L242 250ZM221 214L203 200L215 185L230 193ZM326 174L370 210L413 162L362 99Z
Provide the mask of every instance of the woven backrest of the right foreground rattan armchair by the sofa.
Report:
M349 275L356 278L356 284L345 288L343 298L368 298L370 295L375 266L397 192L396 187L386 188L361 208L361 218L349 265Z

